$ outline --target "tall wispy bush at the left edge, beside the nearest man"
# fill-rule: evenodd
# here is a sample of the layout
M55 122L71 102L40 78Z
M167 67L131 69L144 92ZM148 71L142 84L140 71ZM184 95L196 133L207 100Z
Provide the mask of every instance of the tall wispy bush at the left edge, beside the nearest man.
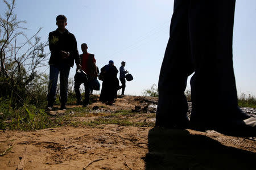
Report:
M26 28L21 27L26 22L17 20L14 14L15 1L3 2L6 12L0 16L0 97L10 100L11 107L15 108L26 102L40 101L36 96L41 95L32 94L45 92L42 83L46 82L46 75L39 73L38 69L44 66L48 55L44 48L48 42L41 42L37 36L41 28L28 38L23 32ZM25 41L17 43L18 39Z

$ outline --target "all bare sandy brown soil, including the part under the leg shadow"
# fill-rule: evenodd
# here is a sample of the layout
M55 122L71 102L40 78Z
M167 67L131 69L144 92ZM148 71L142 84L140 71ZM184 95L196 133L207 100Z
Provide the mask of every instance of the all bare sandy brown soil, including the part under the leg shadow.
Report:
M155 112L151 105L156 103L154 97L125 96L114 105L96 102L89 108L92 112L132 109L144 113L134 121L154 121L146 115ZM63 112L51 114L59 113ZM256 141L216 131L63 126L0 131L0 154L0 169L254 169Z

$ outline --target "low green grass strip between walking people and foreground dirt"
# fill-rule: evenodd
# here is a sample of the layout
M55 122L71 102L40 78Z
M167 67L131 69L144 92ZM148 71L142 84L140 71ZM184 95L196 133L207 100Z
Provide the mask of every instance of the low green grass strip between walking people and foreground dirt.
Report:
M120 110L114 113L90 113L88 108L69 108L64 114L57 114L55 117L46 113L44 108L34 105L26 105L13 109L8 101L0 100L0 129L1 130L22 130L31 131L60 126L98 126L116 124L121 126L154 126L152 122L132 122L129 118L138 116L139 113L130 110ZM146 116L146 114L144 114ZM76 117L94 117L95 120L80 121ZM151 116L150 116L151 117Z

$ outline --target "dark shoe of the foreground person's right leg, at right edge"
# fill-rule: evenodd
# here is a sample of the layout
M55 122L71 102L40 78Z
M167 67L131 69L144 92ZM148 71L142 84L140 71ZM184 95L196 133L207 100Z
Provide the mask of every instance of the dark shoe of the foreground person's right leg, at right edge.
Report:
M191 115L191 128L200 131L215 130L222 134L240 137L256 137L256 118L250 117L238 107L231 113L223 113L225 115L222 117L211 118Z

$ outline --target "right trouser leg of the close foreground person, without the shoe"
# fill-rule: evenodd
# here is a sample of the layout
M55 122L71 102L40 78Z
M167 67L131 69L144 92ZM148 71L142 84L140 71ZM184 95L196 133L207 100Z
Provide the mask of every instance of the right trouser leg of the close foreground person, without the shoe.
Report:
M189 37L195 61L192 102L193 111L200 117L209 116L205 114L209 105L227 110L237 107L232 61L234 7L234 0L191 1L189 6Z

